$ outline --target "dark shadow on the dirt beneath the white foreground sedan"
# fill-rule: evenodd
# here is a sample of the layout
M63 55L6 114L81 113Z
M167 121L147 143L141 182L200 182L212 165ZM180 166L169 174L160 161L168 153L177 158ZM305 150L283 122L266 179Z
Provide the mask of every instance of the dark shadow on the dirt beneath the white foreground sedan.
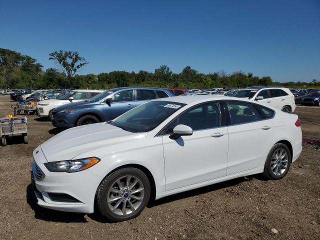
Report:
M239 177L232 180L196 188L193 190L184 191L181 193L173 194L170 196L166 196L163 198L160 198L158 200L150 200L147 204L148 208L152 208L161 204L165 204L168 202L180 200L183 198L192 197L195 195L204 194L210 191L219 190L222 188L230 187L237 185L244 181L250 181L252 179L256 178L255 175L248 176L248 177ZM40 207L37 205L36 197L32 191L32 186L29 184L26 188L26 199L27 203L30 205L32 210L34 211L34 217L37 219L45 220L45 221L53 221L53 222L87 222L85 219L84 213L73 213L73 212L63 212L63 211L56 211L51 209L46 209L43 207ZM96 204L94 204L96 206ZM87 214L87 216L95 221L101 222L101 223L111 223L112 221L107 220L104 218L97 208L95 207L94 213Z

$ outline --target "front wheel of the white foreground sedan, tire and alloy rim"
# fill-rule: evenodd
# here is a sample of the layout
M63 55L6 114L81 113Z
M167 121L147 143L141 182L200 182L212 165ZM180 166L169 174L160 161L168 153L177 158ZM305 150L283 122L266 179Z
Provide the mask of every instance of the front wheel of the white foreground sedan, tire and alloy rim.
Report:
M143 171L134 167L121 168L100 183L96 194L97 208L110 221L125 221L141 213L149 201L150 192L150 182Z

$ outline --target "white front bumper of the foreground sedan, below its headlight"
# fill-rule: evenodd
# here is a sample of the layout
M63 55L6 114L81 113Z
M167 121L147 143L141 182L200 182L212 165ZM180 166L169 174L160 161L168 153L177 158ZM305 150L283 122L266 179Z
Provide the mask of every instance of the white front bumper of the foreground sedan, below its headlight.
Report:
M35 153L37 152L37 153ZM33 151L34 164L45 175L43 179L36 178L34 167L32 167L31 182L38 205L60 211L92 213L94 209L94 196L98 184L102 180L89 169L79 172L50 172L44 166L47 162L45 156L38 146ZM32 178L34 180L32 180ZM39 180L41 179L41 180ZM76 201L60 201L53 199L53 194L68 195Z

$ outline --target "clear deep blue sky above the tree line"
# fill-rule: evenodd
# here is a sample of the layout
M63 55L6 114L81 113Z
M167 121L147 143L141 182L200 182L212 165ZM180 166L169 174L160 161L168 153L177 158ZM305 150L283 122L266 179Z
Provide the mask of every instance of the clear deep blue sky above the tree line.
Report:
M0 0L0 47L54 67L74 50L80 72L242 70L320 80L320 0Z

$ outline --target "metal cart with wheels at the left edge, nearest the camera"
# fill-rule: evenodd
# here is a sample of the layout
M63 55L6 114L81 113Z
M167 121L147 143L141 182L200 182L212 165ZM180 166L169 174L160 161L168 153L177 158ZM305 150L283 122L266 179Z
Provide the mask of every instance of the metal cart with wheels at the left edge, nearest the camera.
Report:
M23 143L28 143L26 116L10 116L0 118L0 139L1 145L6 145L6 138L9 136L21 135Z

